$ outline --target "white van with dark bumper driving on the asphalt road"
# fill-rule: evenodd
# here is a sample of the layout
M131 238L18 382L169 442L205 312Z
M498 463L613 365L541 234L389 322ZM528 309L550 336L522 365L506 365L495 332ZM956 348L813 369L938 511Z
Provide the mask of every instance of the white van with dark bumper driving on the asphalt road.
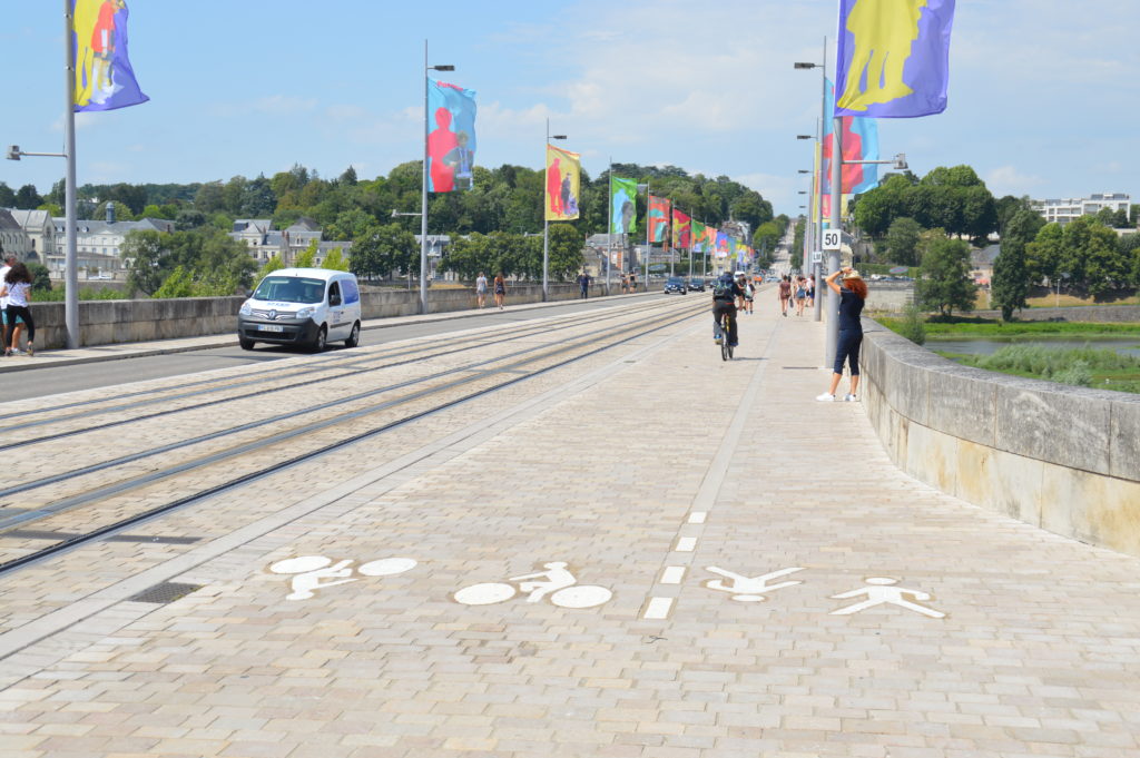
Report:
M360 343L360 286L356 275L331 269L279 269L268 275L237 311L237 341L304 345Z

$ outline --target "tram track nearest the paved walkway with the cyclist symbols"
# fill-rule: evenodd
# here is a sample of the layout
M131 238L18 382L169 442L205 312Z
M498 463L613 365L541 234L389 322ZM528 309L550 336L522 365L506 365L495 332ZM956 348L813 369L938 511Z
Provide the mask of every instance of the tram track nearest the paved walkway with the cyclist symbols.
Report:
M679 312L676 309L670 308L669 311L666 313L659 313L648 318L642 318L633 324L626 321L616 327L610 327L608 329L609 334L606 336L603 336L603 339L601 340L601 344L598 344L600 340L597 335L591 334L554 348L551 348L549 344L540 345L540 348L547 348L547 350L540 351L535 354L529 354L529 356L524 354L535 351L535 348L529 348L523 351L515 351L515 353L511 353L507 356L500 356L489 361L480 361L484 365L489 365L489 364L513 360L513 362L507 362L506 365L494 369L473 370L471 366L464 366L464 367L447 369L445 372L439 372L432 376L434 378L439 378L441 376L461 374L461 373L466 373L470 375L462 376L458 378L453 378L450 381L446 381L432 386L421 388L410 393L397 398L391 398L384 400L383 402L375 404L373 406L356 409L351 411L352 418L360 419L366 416L375 415L377 413L382 413L385 410L391 410L397 407L408 406L415 404L416 401L421 401L432 397L438 397L440 393L447 392L449 390L456 390L459 388L465 388L471 384L478 384L481 380L486 380L490 376L499 376L512 372L519 372L523 370L523 367L528 365L531 366L531 368L529 370L526 370L526 373L515 376L510 376L504 381L494 382L487 386L477 386L475 389L465 392L458 397L448 398L442 400L441 402L434 402L425 408L413 408L410 409L409 413L405 413L404 415L400 415L398 417L381 421L378 424L373 424L359 431L353 431L350 434L342 437L340 439L333 439L332 441L327 442L321 441L312 449L295 455L291 455L287 457L282 457L280 460L270 464L268 466L261 466L253 468L251 471L239 472L236 475L231 475L229 478L222 479L221 481L217 481L206 487L199 488L189 495L176 498L173 500L163 503L157 506L144 507L139 512L133 513L127 517L113 519L107 523L96 525L95 528L89 529L83 533L68 535L66 539L62 539L57 543L54 543L49 546L40 547L38 549L31 549L28 552L23 553L22 555L17 555L15 557L3 561L2 563L0 563L0 574L15 571L22 567L50 557L51 555L55 555L59 552L72 549L79 545L95 541L103 537L121 532L125 529L131 528L132 525L141 523L142 521L152 520L171 511L179 510L188 505L192 505L194 503L201 502L203 499L207 499L217 495L220 495L222 492L234 490L253 481L278 473L280 471L301 465L303 463L314 460L321 456L329 455L348 446L365 440L369 440L378 435L382 435L386 432L391 432L393 430L407 426L408 424L435 415L442 410L447 410L449 408L454 408L456 406L471 402L479 398L484 398L491 393L514 386L519 383L529 381L537 376L545 375L557 368L584 360L591 356L595 356L602 351L610 350L617 345L625 344L632 340L636 340L638 337L652 334L660 329L668 328L684 320L687 320L692 316L703 311L705 311L703 303L699 307L686 308ZM568 353L570 353L569 357L564 357L568 356ZM546 362L551 361L552 359L553 362ZM422 384L426 380L427 377L420 377L418 380L412 380L409 382L406 382L404 383L404 385L412 386L417 383ZM384 391L390 392L391 390L392 390L391 388L388 388ZM372 394L376 394L376 392L373 392ZM52 510L50 512L42 510L40 513L32 512L31 516L21 519L17 525L24 527L27 524L36 524L44 519L49 519L50 516L59 515L68 511L81 508L84 505L90 505L92 503L100 503L107 500L108 498L123 495L124 492L139 490L157 481L171 480L181 474L185 474L188 471L201 470L207 466L217 467L219 464L233 462L235 458L241 458L251 450L264 451L267 448L271 448L274 446L286 445L299 437L311 435L315 431L327 431L334 424L343 426L344 425L343 422L345 418L348 418L348 415L341 414L333 418L312 422L311 424L299 426L292 430L286 430L284 432L279 432L276 434L271 434L260 440L254 440L251 442L234 446L227 450L215 451L212 455L184 462L182 464L176 466L149 472L141 476L104 486L103 488L97 488L95 490L80 494L73 498L56 502L52 504ZM111 511L112 514L117 514L121 510L122 510L121 507L116 507L112 508ZM87 513L87 511L84 511L84 513ZM9 524L9 527L10 525L11 524ZM3 536L5 533L0 532L0 538L2 538Z

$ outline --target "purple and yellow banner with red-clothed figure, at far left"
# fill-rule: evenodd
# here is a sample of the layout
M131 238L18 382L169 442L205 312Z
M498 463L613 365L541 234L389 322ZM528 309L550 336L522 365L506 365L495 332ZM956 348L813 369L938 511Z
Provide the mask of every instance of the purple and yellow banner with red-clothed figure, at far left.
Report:
M75 113L146 103L127 54L125 0L72 0Z

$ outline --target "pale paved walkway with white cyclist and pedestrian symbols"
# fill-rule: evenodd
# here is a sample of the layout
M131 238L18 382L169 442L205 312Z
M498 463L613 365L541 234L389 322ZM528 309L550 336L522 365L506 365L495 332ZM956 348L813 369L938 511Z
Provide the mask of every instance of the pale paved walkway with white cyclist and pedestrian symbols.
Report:
M701 318L464 409L92 617L0 692L5 756L1140 755L1140 561L902 474L760 305L735 361Z

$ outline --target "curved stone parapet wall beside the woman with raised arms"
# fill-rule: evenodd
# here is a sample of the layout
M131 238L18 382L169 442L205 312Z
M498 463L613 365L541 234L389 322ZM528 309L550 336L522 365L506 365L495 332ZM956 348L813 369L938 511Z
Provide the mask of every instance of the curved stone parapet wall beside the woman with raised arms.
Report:
M864 319L862 396L912 476L1140 555L1140 397L961 366Z

